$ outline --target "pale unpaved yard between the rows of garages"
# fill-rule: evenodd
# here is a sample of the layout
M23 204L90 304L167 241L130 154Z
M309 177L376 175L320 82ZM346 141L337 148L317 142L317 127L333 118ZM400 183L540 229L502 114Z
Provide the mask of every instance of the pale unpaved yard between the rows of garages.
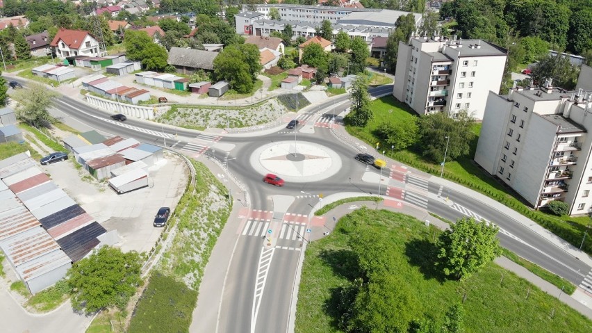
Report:
M181 199L188 182L188 168L174 154L149 168L149 186L118 195L106 181L97 181L84 169L76 169L74 161L41 166L49 177L82 206L108 232L116 229L121 247L126 252L149 251L163 228L152 226L160 207L174 207Z

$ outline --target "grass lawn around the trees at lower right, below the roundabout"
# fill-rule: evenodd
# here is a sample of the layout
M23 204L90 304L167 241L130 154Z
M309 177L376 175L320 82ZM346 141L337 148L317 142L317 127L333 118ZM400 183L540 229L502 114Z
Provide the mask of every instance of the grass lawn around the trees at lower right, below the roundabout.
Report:
M445 279L434 267L432 239L437 229L399 213L360 209L341 218L331 236L306 249L295 332L343 332L337 326L336 309L340 291L352 285L347 268L355 255L347 242L355 224L392 240L389 250L397 274L414 291L414 303L420 310L417 319L441 320L452 304L464 298L466 332L592 330L591 320L495 263L463 281Z

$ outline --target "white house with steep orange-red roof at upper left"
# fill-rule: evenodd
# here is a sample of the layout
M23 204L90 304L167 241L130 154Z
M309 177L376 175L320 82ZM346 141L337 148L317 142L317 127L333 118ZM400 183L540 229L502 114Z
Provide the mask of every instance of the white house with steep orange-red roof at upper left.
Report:
M99 43L88 31L60 29L49 44L56 56L99 56Z

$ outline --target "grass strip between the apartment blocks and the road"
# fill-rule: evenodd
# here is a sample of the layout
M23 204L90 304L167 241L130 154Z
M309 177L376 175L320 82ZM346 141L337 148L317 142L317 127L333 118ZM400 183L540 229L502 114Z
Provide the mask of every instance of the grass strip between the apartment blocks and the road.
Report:
M376 147L379 142L375 136L375 130L383 123L400 122L406 124L413 120L413 117L418 117L416 113L405 104L400 103L394 97L388 96L372 101L370 106L374 117L366 125L366 127L347 127L347 131L364 140L370 147ZM518 211L527 218L537 222L539 225L550 230L557 236L564 238L575 247L579 247L586 231L586 225L590 222L590 218L584 217L569 217L569 216L552 216L544 211L534 211L520 201L519 195L513 190L502 186L490 174L480 169L472 160L475 156L475 149L477 148L477 141L479 140L479 131L481 131L481 124L475 124L472 128L476 136L470 143L471 151L468 156L457 159L457 161L447 162L444 170L444 177L455 181L463 186L467 186L472 190L477 190L488 197L509 206L511 209ZM419 150L405 149L400 152L391 152L388 145L384 145L386 154L392 159L401 161L413 168L417 168L424 172L434 175L440 175L439 163L434 163L425 159ZM495 222L495 221L494 221ZM592 237L587 237L582 247L588 254L592 254Z

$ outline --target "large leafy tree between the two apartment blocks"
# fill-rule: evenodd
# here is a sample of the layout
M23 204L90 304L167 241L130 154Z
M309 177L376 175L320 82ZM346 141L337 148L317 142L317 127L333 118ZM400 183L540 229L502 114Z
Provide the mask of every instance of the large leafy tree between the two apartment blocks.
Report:
M419 119L421 140L420 148L423 156L436 163L444 159L446 146L446 160L452 161L460 156L466 156L470 152L470 142L475 138L471 127L475 119L466 111L457 113L456 119L448 117L446 113L438 112L425 115ZM450 139L447 139L446 137ZM447 143L447 140L450 142Z

